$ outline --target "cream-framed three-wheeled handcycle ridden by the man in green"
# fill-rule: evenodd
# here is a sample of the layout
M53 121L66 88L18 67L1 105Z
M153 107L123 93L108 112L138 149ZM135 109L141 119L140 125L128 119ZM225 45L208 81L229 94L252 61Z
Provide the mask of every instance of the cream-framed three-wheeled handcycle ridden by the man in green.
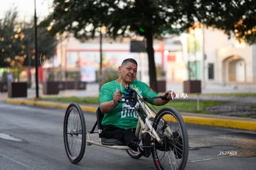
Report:
M141 138L144 132L150 133L150 149L156 169L184 169L189 152L189 138L181 114L172 107L164 107L157 111L145 101L150 98L166 100L166 95L142 97L133 89L126 91L127 93L122 93L121 102L136 109L138 122L135 135ZM130 157L139 159L142 156L139 151L131 150L119 140L102 137L102 119L103 113L98 108L96 122L92 130L87 130L85 116L79 104L69 104L64 117L63 132L66 154L70 162L79 163L85 153L86 145L126 150ZM96 126L98 130L95 130ZM93 139L93 134L98 137Z

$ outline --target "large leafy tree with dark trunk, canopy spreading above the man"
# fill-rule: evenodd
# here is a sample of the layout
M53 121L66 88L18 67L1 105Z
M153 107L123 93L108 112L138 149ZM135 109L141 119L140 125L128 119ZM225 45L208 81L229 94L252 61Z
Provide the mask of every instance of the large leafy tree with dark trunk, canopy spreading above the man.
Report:
M244 23L243 27L254 25L256 4L254 1L54 0L54 11L40 23L40 26L51 27L50 32L53 35L58 32L70 32L74 33L76 38L94 38L102 25L106 26L107 35L112 38L119 35L129 36L131 32L143 35L147 44L150 86L157 90L154 38L161 38L163 32L184 32L195 22L222 28L226 33L235 32L234 24L241 19ZM229 4L235 4L234 8L229 8ZM239 7L242 7L242 12L233 11ZM250 12L246 13L245 7ZM230 16L233 16L237 22L230 23ZM247 20L249 18L250 20ZM255 30L253 35L250 38L255 42ZM242 36L242 38L248 37Z

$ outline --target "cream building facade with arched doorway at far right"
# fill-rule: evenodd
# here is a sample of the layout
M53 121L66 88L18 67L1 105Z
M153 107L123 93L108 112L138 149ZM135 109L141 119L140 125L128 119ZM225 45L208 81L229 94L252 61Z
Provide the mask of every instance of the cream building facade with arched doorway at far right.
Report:
M223 85L256 82L256 45L239 43L220 30L204 32L206 82Z

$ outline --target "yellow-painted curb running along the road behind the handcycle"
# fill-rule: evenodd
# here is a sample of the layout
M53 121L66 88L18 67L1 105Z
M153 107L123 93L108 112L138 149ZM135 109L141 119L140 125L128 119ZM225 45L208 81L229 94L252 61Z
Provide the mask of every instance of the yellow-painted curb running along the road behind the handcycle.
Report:
M41 106L48 108L67 109L69 104L54 103L48 101L36 100L15 100L6 99L6 103L11 104L24 104L28 106ZM96 113L95 106L80 106L82 111ZM229 127L233 129L256 130L256 119L242 119L242 118L229 118L229 117L213 117L213 116L195 116L195 115L182 115L184 122L189 124L211 125L218 127Z

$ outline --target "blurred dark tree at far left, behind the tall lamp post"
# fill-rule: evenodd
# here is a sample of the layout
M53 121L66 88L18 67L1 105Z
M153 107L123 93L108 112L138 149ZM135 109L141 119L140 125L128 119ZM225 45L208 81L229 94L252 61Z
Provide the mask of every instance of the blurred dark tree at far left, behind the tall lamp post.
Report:
M35 66L35 34L33 22L17 20L18 12L10 9L0 19L0 67L10 67L17 56L22 56L22 66ZM38 30L38 51L45 57L53 57L57 40L45 29ZM11 64L12 62L12 64ZM20 66L20 65L19 65Z

